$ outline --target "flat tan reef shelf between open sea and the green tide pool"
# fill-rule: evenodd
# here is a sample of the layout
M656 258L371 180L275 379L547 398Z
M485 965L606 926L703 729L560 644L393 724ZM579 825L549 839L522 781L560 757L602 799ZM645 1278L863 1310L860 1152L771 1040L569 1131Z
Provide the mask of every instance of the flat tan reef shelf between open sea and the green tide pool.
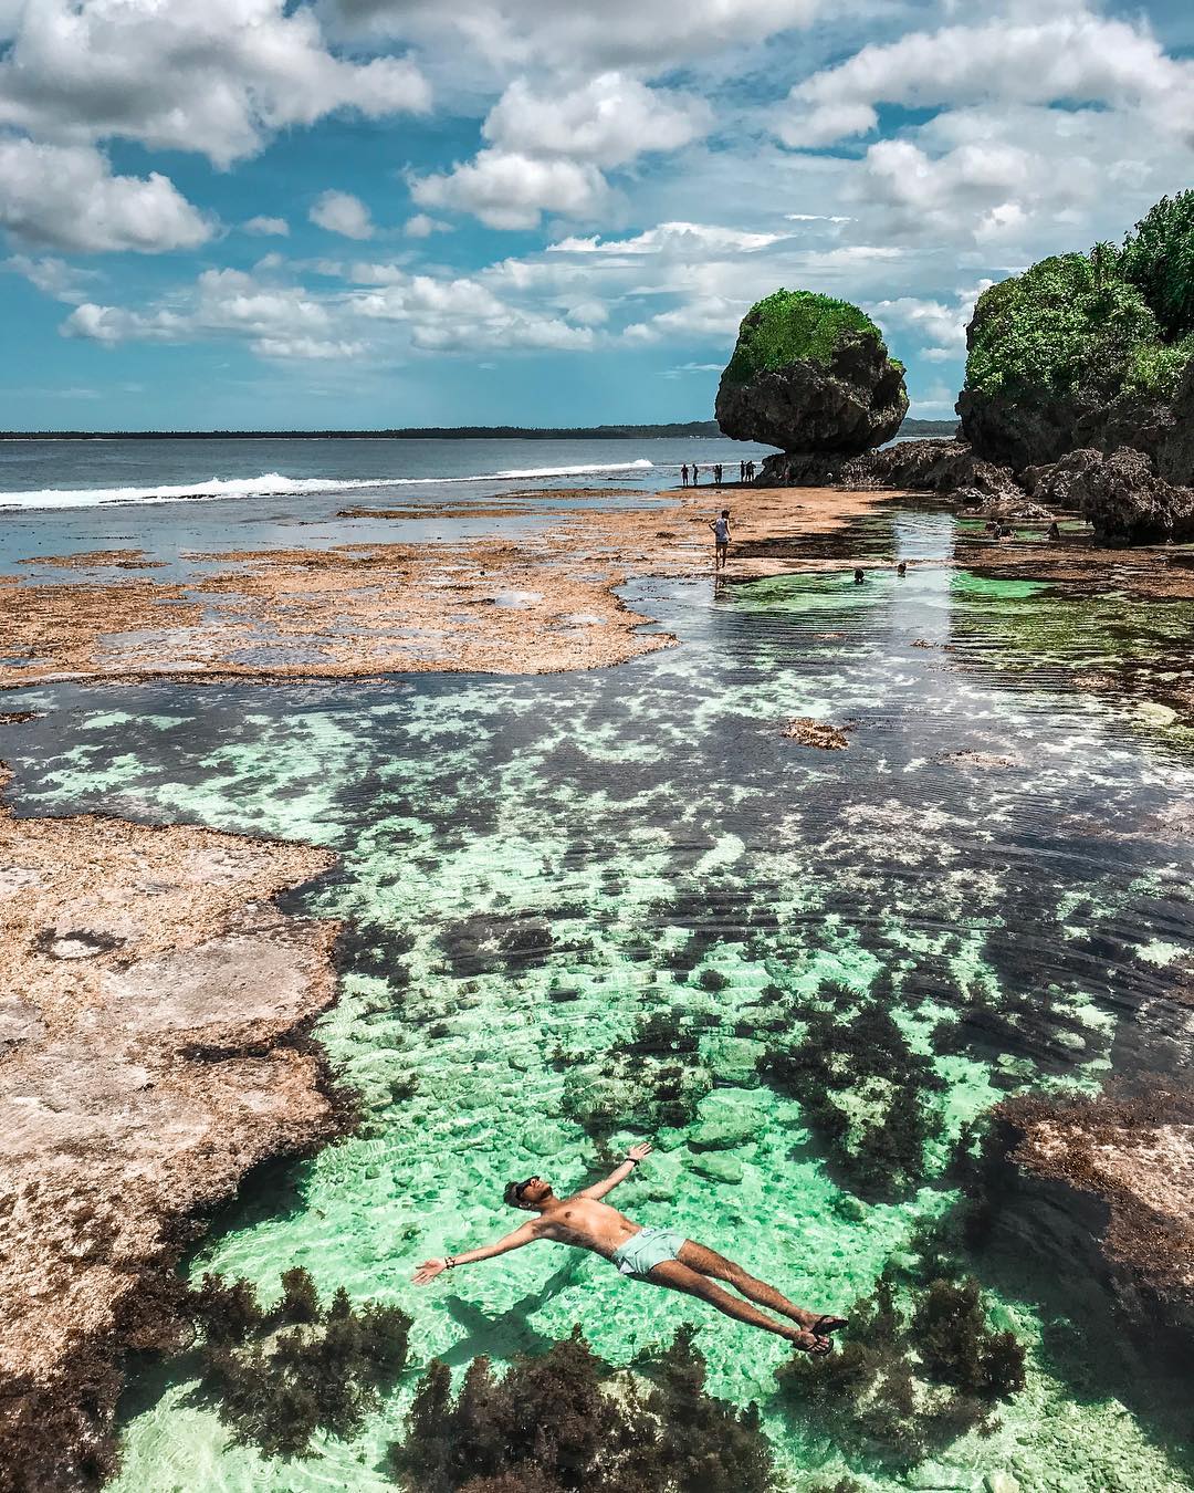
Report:
M716 509L737 515L730 573L749 579L793 567L793 534L839 529L894 494L700 487L618 493L609 509L558 506L576 496L536 494L542 524L509 537L498 530L475 540L370 537L190 555L204 566L190 584L148 575L40 584L0 576L0 688L64 678L278 681L604 667L673 642L643 632L651 618L625 608L615 590L637 576L712 575L707 521ZM515 493L485 508L506 518L528 505ZM388 514L410 512L345 511L367 518L370 534ZM476 517L467 508L452 512ZM349 526L346 518L351 537Z

